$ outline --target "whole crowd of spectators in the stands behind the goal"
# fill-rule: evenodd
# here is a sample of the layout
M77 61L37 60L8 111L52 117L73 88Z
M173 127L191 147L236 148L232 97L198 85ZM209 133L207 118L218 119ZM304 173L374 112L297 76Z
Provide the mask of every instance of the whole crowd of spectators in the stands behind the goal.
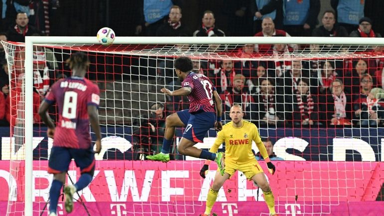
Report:
M370 18L376 17L374 14L364 13L364 1L361 0L331 0L334 10L324 11L318 27L320 0L228 0L223 8L228 17L229 32L216 26L212 10L205 10L200 26L193 29L183 22L187 18L183 16L183 11L188 8L182 8L177 0L143 2L141 21L136 26L138 35L381 37L372 27L381 21ZM36 24L36 17L29 13L31 10L26 11L22 6L25 5L15 7L18 9L13 13L14 22L3 19L0 40L23 42L25 36L49 33L49 26ZM252 18L248 22L246 17L249 14ZM30 24L31 17L35 20L33 24ZM242 44L232 50L214 44L206 47L178 44L175 48L179 51L232 52L243 58L284 55L303 49L324 50L324 47L297 44ZM382 53L383 49L377 47L370 51ZM9 124L10 115L15 115L9 103L10 100L17 100L8 96L11 83L4 57L4 49L0 45L0 125ZM60 75L56 73L58 65L55 55L48 48L36 46L33 63L34 109L37 109L49 86ZM174 74L172 58L159 58L156 65L151 66L157 68L158 84L171 90L180 86L181 82ZM243 107L244 119L259 127L373 127L384 126L383 66L383 58L289 61L208 59L194 60L193 72L206 75L216 86L223 101L222 118L226 122L230 120L229 108L238 103ZM19 78L23 76L22 73L16 75ZM188 108L188 105L186 97L168 97L165 104L151 105L149 116L142 116L139 122L133 122L133 125L141 127L135 134L147 131L143 137L135 138L136 142L161 143L157 139L164 133L161 128L165 117L169 112ZM39 123L38 115L34 116L34 122ZM157 152L158 148L152 151Z

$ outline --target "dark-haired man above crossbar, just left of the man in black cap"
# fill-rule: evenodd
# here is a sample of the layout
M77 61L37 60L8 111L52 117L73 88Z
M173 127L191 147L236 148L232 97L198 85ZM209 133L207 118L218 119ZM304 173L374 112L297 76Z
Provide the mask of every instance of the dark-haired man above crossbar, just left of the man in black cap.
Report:
M326 10L321 19L323 25L313 29L312 36L315 37L348 37L348 32L343 26L335 25L335 12Z

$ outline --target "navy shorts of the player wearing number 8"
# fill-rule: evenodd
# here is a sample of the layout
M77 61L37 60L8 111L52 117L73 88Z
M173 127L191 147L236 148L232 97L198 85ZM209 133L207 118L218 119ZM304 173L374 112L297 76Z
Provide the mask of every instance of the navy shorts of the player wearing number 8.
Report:
M95 170L95 153L92 149L72 149L52 147L48 161L48 173L57 174L68 171L69 164L75 159L81 173L93 173Z

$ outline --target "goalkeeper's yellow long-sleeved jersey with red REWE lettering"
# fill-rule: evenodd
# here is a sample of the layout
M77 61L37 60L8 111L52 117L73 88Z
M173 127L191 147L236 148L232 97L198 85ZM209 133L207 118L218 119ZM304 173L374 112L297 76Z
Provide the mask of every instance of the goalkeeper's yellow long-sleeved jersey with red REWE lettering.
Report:
M255 141L257 148L263 158L268 158L267 150L261 141L259 131L255 124L242 120L243 125L235 128L232 122L223 125L221 131L217 133L217 138L209 152L215 153L218 147L225 143L225 159L242 163L255 160L252 153L252 140Z

